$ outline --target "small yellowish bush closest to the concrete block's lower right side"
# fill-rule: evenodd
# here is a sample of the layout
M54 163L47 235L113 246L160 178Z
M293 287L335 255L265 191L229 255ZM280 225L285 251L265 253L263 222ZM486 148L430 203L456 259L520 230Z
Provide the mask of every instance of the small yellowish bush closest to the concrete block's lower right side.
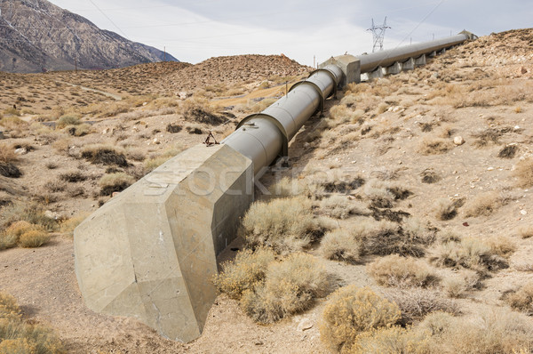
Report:
M239 300L245 290L253 290L267 275L268 264L275 260L275 253L264 247L255 251L245 249L235 256L235 261L222 264L222 272L213 278L220 293Z

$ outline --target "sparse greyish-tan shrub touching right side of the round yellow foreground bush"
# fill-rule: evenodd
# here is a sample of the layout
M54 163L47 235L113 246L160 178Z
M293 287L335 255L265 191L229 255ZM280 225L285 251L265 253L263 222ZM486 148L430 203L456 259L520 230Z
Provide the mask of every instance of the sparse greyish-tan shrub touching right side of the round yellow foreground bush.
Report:
M421 288L388 289L384 295L401 310L400 323L402 325L411 325L436 311L459 313L455 302L443 299L438 293Z

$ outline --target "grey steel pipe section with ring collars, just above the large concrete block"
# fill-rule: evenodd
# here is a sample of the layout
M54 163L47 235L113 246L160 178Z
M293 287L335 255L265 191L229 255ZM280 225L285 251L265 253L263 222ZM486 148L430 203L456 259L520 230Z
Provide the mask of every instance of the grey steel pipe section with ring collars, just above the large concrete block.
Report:
M322 112L324 101L337 93L342 76L336 65L314 71L267 109L245 117L222 143L249 157L254 174L260 177L277 157L287 156L289 141L309 117Z

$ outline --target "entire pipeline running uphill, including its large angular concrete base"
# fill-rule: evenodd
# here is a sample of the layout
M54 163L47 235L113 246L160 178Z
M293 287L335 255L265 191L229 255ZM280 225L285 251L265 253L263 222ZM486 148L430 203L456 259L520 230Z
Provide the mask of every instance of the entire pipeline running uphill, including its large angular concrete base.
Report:
M181 152L92 213L74 231L76 278L87 307L138 318L175 341L199 337L217 297L217 255L254 200L254 181L339 86L414 68L475 36L342 55L320 65L221 144Z

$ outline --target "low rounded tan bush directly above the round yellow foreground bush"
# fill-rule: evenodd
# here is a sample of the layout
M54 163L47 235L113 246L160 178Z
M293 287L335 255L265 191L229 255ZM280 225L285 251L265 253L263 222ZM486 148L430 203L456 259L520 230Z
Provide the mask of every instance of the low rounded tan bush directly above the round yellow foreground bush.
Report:
M422 260L401 257L398 254L387 255L367 266L369 274L381 286L434 286L438 283L434 270Z

